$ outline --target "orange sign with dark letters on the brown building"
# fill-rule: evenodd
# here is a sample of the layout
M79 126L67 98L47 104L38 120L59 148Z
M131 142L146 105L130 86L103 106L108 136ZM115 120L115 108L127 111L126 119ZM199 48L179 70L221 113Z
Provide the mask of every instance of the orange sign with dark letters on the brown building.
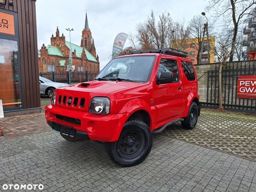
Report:
M0 12L0 33L15 35L14 15Z

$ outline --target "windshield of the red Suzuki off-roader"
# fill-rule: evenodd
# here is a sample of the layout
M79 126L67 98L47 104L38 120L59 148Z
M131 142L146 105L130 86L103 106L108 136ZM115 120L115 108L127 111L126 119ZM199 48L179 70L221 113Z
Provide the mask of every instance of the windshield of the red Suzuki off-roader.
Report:
M111 60L95 78L99 81L148 81L154 66L155 56L127 56Z

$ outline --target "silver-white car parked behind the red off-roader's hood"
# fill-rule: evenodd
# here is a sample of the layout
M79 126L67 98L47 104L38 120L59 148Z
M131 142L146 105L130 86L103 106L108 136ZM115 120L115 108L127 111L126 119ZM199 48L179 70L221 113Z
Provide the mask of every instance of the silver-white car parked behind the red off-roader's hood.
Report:
M40 95L47 95L48 97L52 97L52 92L56 88L69 85L67 83L53 82L41 76L39 76L39 84L40 84Z

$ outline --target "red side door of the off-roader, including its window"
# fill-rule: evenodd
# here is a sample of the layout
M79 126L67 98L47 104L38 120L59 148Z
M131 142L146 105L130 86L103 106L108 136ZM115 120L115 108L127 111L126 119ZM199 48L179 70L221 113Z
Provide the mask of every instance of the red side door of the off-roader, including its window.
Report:
M157 78L161 72L167 71L173 74L173 83L155 84L154 87L154 104L157 109L157 120L161 122L173 116L180 115L184 112L184 97L182 81L180 79L180 70L178 63L174 59L162 58L157 70Z

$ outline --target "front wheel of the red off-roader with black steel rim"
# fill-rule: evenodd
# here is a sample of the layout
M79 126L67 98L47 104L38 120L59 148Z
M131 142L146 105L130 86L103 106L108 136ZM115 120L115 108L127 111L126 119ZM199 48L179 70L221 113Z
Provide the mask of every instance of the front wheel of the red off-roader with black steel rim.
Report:
M134 166L144 161L152 148L152 132L138 119L128 120L118 141L106 142L106 152L116 164Z

